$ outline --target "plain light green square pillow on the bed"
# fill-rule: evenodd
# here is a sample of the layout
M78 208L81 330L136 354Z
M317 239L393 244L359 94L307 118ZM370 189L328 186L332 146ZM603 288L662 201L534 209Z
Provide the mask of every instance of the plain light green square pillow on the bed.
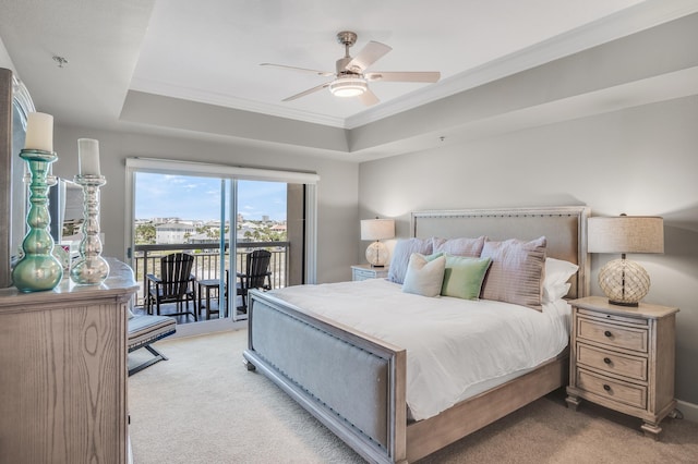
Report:
M441 294L464 300L478 300L490 258L446 255L446 269Z

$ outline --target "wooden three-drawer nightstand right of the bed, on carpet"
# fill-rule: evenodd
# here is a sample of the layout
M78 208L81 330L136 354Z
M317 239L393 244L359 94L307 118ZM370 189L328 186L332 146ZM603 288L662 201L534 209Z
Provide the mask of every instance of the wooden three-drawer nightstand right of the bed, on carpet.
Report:
M609 304L589 296L573 307L567 404L581 399L643 420L658 439L660 422L675 407L674 334L678 308Z

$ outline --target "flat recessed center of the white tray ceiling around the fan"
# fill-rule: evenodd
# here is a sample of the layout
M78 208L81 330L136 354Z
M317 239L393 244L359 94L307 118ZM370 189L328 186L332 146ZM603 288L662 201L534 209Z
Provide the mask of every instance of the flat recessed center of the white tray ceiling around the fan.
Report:
M344 126L366 111L325 89L332 78L260 66L335 71L340 30L393 47L372 71L441 71L444 81L640 3L638 0L221 0L156 2L131 88ZM195 20L194 20L195 19ZM429 84L372 83L382 102Z

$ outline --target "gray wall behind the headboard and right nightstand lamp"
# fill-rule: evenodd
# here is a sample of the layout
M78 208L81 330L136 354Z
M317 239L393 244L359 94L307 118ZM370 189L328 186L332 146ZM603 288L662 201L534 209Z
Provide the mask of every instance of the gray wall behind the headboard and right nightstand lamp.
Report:
M677 306L676 396L698 403L698 97L364 162L360 217L421 209L588 205L592 215L664 218L665 253L633 255L648 303ZM359 255L361 257L361 254ZM616 256L592 255L599 268Z

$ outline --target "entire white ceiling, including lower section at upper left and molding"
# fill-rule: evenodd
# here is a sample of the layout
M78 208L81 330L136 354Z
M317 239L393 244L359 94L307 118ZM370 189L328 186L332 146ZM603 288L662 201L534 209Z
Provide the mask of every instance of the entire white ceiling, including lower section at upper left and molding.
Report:
M0 0L0 38L37 109L119 129L129 90L353 129L698 11L695 0ZM371 71L440 71L436 84L371 83L366 108L329 81L260 66L334 71L340 30ZM53 56L69 62L59 68ZM0 53L0 59L2 58ZM0 61L0 64L2 62Z

